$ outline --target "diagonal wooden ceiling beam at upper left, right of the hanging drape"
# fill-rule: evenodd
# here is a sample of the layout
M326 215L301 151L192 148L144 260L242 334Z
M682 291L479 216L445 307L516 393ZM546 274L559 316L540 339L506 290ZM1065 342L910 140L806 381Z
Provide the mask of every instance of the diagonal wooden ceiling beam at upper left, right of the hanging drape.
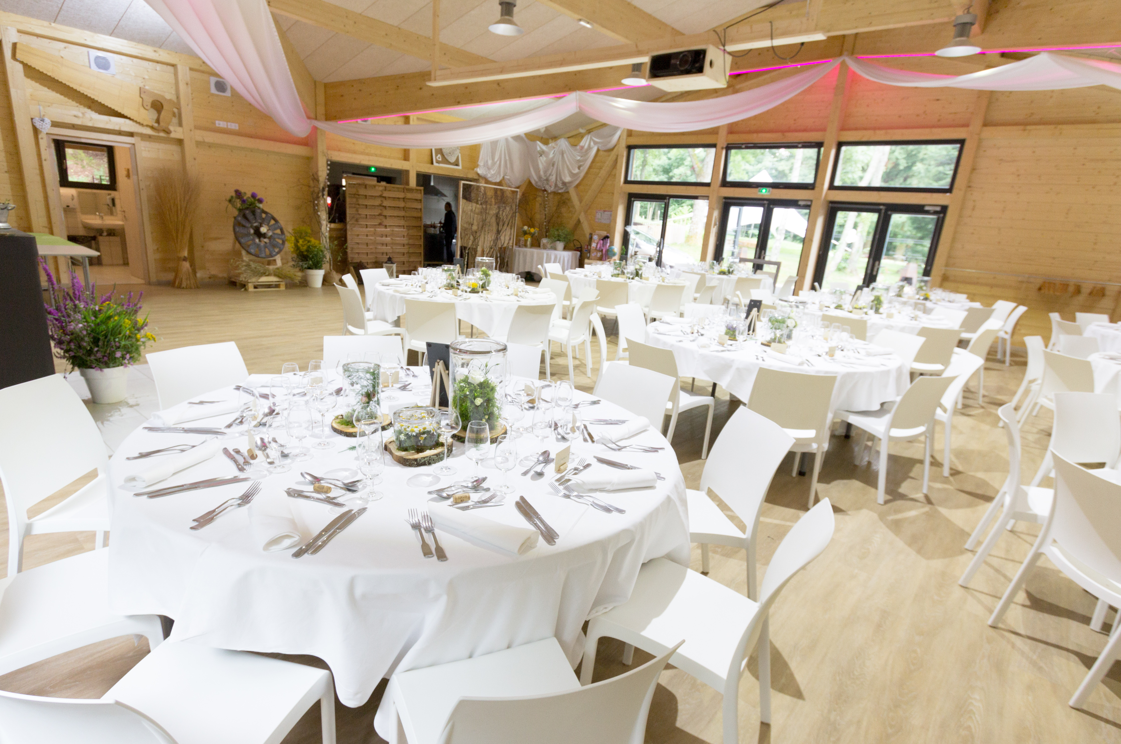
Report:
M268 0L269 10L295 18L311 26L369 41L383 49L407 54L418 59L432 58L433 40L423 34L407 31L391 24L340 8L324 0ZM447 44L439 46L439 61L450 67L484 65L488 57L464 52Z

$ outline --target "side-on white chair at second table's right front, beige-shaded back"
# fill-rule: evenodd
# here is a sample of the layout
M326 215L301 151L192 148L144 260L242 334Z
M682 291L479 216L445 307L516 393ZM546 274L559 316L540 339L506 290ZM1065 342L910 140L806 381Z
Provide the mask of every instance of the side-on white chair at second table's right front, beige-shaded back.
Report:
M880 440L880 473L876 503L883 503L888 480L888 450L891 441L924 437L923 493L927 492L930 483L930 448L934 444L934 412L953 381L954 378L945 374L941 378L919 378L898 400L884 403L877 411L836 412L836 417L842 421L852 424ZM870 446L874 446L874 441L870 443ZM862 464L863 453L862 441L856 448L856 465Z

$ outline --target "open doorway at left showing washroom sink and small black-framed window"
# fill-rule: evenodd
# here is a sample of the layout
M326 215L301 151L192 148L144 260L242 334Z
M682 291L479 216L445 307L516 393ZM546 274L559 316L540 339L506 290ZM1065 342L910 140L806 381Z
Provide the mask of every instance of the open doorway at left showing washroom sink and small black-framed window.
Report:
M58 189L52 222L66 240L91 248L90 278L98 285L142 285L148 280L143 221L132 145L86 137L50 134Z

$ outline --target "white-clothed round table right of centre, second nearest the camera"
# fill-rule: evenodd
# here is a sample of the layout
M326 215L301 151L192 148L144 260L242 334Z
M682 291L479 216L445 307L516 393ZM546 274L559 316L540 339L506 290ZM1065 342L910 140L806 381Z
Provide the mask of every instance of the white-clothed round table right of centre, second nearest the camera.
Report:
M871 411L904 394L910 383L910 370L895 354L842 354L830 360L813 357L810 364L797 364L789 355L776 355L753 341L739 342L731 351L726 346L701 348L682 326L651 323L646 343L674 352L677 372L683 378L702 378L720 384L740 400L751 397L759 368L808 374L835 374L831 410ZM856 344L864 348L869 344ZM785 357L785 359L784 359Z

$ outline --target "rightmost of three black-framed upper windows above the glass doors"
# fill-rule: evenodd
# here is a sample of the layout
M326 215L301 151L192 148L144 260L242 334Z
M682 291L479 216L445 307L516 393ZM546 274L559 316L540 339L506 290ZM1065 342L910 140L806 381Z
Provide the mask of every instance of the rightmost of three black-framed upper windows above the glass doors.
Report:
M954 187L965 140L841 142L833 188L942 192Z

